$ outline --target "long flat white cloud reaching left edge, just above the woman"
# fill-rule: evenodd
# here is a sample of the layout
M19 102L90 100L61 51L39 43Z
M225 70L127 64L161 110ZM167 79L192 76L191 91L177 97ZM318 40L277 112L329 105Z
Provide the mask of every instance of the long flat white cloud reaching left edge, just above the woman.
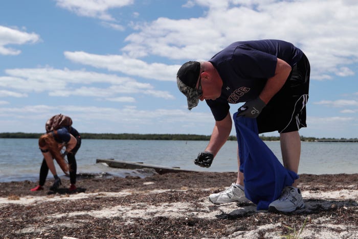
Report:
M0 77L0 86L22 92L48 91L50 96L69 97L70 95L86 97L122 97L119 94L143 93L156 98L174 99L167 91L154 90L149 83L141 83L129 77L101 74L85 70L54 68L7 69L9 76ZM101 84L102 87L92 86ZM80 86L88 85L88 86ZM26 97L26 94L12 91L0 91L2 95Z

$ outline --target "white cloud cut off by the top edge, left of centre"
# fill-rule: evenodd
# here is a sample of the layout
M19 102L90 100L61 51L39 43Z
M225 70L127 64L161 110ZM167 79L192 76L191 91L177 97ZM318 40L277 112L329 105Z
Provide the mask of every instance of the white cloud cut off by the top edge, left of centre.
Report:
M134 0L56 0L57 6L79 16L114 20L108 13L111 8L121 8L133 4Z

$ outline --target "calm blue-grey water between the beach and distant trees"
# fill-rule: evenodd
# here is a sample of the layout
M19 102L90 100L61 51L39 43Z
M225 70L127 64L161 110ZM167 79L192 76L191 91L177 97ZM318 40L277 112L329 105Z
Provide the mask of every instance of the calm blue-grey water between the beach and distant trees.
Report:
M37 181L42 162L37 139L0 138L0 182ZM266 141L280 161L278 141ZM109 168L96 163L97 158L113 158L144 162L182 169L204 170L193 163L208 141L173 140L97 140L84 139L76 155L78 173L107 172L118 176L143 174L137 171ZM209 169L211 172L237 172L236 141L228 141ZM63 174L57 168L59 175ZM302 142L299 174L358 173L358 144L356 142ZM48 176L52 179L51 173Z

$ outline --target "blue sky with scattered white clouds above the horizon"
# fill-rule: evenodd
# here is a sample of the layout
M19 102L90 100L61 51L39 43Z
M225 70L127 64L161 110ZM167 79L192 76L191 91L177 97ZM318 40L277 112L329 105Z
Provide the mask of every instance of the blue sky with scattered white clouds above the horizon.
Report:
M0 8L0 132L57 113L87 133L210 135L176 72L234 41L282 39L311 64L309 137L358 137L355 0L12 0ZM231 112L241 104L231 105ZM234 135L234 129L232 131ZM266 133L265 135L277 135Z

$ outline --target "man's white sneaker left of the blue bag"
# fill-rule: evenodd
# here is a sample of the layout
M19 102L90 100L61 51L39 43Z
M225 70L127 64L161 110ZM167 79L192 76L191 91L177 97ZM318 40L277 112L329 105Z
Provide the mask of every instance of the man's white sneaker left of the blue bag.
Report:
M231 203L231 202L249 202L249 200L245 197L244 191L235 185L235 183L231 184L231 186L220 193L211 194L209 196L209 201L214 204L223 204L223 203Z

